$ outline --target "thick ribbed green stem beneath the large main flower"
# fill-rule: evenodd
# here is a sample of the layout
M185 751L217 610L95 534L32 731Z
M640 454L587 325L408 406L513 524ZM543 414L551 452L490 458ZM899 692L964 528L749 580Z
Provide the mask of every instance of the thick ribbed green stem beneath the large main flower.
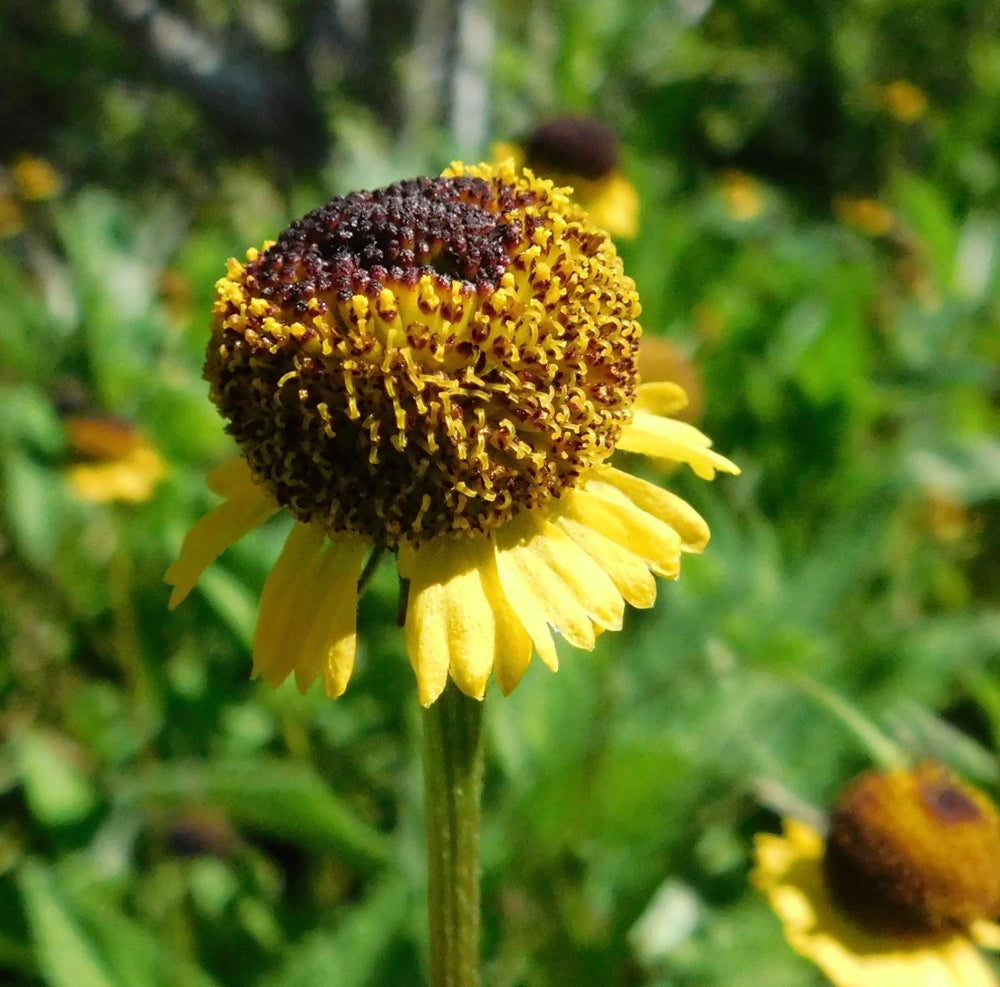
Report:
M453 683L424 713L432 987L479 984L483 704Z

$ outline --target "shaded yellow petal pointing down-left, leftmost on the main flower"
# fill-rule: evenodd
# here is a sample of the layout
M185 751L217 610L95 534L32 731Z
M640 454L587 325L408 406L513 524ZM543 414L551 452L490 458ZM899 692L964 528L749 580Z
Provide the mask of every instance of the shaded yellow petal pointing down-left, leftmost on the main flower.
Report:
M209 564L278 510L277 501L253 482L243 459L234 459L215 470L209 477L209 487L227 499L187 533L177 560L167 570L164 580L174 587L171 609L191 592Z

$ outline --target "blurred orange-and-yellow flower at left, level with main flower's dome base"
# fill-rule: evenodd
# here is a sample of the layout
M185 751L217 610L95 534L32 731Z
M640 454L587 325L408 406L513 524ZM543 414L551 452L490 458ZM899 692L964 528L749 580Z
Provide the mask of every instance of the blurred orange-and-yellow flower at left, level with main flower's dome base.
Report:
M70 466L66 478L80 500L94 503L148 500L166 476L155 446L129 422L74 416L65 423L71 450L89 460Z

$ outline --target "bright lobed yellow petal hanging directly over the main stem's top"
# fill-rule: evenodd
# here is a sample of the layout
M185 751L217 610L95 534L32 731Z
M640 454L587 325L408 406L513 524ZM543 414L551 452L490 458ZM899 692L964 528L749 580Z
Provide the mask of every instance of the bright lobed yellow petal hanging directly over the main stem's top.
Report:
M481 573L492 555L486 537L400 546L399 571L410 580L406 647L423 706L441 695L449 674L466 695L482 699L486 692L497 628Z

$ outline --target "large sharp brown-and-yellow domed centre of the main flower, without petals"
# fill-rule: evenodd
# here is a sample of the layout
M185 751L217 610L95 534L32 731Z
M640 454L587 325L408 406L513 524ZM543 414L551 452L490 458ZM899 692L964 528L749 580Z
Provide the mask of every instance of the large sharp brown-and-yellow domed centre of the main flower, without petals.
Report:
M329 533L490 531L631 418L638 297L563 190L510 166L334 199L217 286L206 377L251 471Z

